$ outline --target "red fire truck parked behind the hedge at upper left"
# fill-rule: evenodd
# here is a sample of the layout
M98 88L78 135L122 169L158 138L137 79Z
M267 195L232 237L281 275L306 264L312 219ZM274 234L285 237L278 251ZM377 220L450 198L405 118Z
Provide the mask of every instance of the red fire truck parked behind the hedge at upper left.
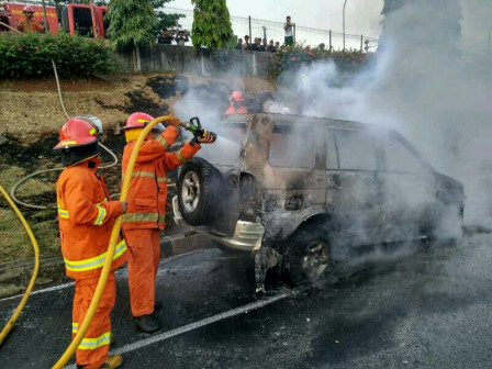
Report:
M4 2L3 9L0 9L0 22L16 29L19 22L24 16L22 10L26 3ZM30 4L34 8L34 20L45 25L43 7ZM86 37L103 37L108 31L109 23L104 21L104 15L108 11L107 7L82 5L82 4L66 4L62 11L62 20L58 20L58 14L55 7L46 7L46 20L48 23L47 30L51 33L56 33L59 29L69 32L72 36L80 35ZM0 24L0 32L13 32L7 26Z

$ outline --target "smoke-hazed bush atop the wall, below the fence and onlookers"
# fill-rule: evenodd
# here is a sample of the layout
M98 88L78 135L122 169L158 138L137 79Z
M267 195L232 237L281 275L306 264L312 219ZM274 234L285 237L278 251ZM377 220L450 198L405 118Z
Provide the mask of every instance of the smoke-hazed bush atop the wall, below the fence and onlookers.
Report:
M275 63L277 75L280 75L282 70L300 68L305 63L311 64L318 60L332 60L340 71L354 72L360 70L371 56L372 54L366 54L357 49L343 52L298 45L279 49L272 63Z

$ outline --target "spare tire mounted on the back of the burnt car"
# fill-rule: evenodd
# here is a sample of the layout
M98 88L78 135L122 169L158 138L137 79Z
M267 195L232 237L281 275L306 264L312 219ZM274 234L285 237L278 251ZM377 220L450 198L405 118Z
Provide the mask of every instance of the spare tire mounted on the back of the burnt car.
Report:
M202 158L183 165L178 178L178 204L190 225L203 225L214 219L219 192L223 188L217 168Z

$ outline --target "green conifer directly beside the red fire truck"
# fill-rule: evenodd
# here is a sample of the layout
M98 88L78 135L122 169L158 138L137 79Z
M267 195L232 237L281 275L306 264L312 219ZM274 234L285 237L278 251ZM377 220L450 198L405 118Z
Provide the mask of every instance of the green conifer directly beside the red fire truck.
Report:
M111 0L107 18L108 35L116 49L150 46L158 22L147 0Z

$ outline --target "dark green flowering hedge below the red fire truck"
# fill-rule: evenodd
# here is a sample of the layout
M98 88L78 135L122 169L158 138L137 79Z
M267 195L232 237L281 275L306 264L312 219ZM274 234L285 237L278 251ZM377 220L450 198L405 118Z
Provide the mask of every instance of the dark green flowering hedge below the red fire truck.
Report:
M58 75L90 77L113 69L112 53L103 40L94 41L68 33L0 35L0 77L53 76L52 59Z

